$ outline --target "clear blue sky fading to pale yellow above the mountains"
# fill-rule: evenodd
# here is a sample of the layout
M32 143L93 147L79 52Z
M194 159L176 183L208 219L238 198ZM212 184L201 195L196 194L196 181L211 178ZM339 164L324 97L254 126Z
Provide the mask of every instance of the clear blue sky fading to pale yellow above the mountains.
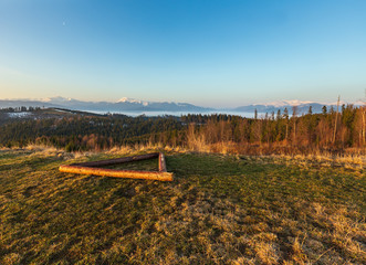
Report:
M0 98L365 97L365 0L0 0Z

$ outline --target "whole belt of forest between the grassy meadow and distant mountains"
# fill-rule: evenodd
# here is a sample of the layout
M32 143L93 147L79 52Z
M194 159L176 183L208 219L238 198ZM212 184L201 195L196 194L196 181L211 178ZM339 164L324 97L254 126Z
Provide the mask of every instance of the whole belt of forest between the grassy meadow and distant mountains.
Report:
M313 114L296 107L254 118L230 115L129 117L25 108L31 115L7 118L0 110L0 145L45 145L67 151L104 150L126 145L163 145L197 151L269 153L365 153L366 107L343 105Z

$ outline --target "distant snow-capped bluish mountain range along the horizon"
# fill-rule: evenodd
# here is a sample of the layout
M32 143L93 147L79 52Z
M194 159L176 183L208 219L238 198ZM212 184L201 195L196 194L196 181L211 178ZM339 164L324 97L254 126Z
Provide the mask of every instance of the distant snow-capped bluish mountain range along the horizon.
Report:
M341 103L346 104L346 103ZM355 102L354 105L363 105L362 100ZM117 102L83 102L73 98L65 97L51 97L44 99L0 99L0 108L7 107L57 107L67 108L74 110L84 112L109 112L109 113L122 113L122 112L190 112L190 113L212 113L212 112L236 112L236 113L253 113L255 109L258 113L272 113L278 109L289 109L292 113L292 107L297 106L299 114L307 113L309 107L312 106L313 113L321 113L322 107L336 106L336 103L315 103L315 102L301 102L301 100L281 100L272 102L266 104L252 104L247 106L240 106L236 108L216 109L200 107L188 103L157 103L157 102L144 102L133 98L123 97Z

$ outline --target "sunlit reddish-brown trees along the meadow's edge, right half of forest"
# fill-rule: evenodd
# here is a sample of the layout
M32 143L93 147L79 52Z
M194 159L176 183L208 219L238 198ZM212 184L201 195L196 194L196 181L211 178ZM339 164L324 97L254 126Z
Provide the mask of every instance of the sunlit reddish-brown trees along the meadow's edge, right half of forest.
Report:
M194 149L202 146L230 150L231 147L231 151L240 153L343 152L352 148L351 151L365 152L365 106L343 105L339 112L324 106L321 114L313 114L310 107L307 114L301 116L296 107L291 110L285 108L283 113L278 110L252 119L189 116L186 119L190 123L205 126L190 126L187 142Z

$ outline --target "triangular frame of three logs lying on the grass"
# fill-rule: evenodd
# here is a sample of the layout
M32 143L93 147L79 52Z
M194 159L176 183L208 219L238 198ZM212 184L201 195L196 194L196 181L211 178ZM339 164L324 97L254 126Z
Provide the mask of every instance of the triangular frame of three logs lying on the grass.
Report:
M100 168L103 166L133 162L133 161L139 161L139 160L151 159L151 158L158 158L159 171L115 170L115 169ZM124 158L82 162L82 163L72 163L69 166L63 165L63 166L60 166L59 170L61 172L66 172L66 173L172 181L172 173L167 172L167 166L166 166L165 157L164 157L163 152L153 152L153 153L147 153L147 155L134 156L134 157L124 157Z

